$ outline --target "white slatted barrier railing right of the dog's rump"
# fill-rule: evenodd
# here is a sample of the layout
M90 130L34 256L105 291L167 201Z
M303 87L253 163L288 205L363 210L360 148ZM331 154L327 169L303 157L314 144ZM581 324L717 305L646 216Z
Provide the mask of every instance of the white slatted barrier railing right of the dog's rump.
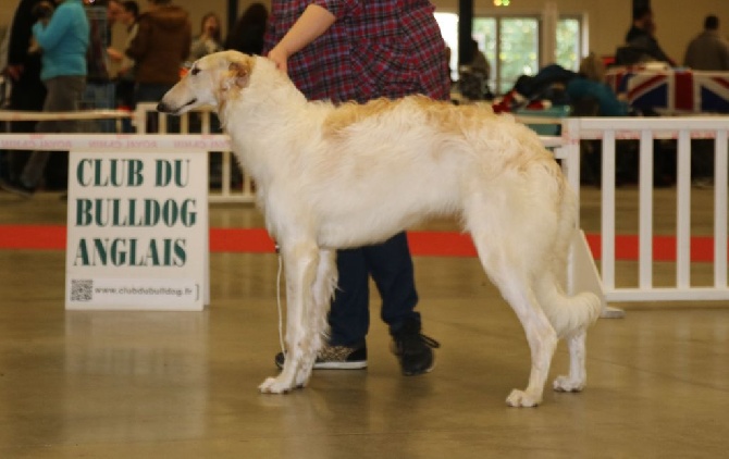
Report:
M568 145L602 140L601 277L608 301L726 300L727 287L727 136L729 117L568 119ZM713 138L714 149L714 280L711 286L691 283L691 139ZM616 140L635 139L639 147L639 273L637 287L616 285ZM653 285L654 139L677 142L676 283Z

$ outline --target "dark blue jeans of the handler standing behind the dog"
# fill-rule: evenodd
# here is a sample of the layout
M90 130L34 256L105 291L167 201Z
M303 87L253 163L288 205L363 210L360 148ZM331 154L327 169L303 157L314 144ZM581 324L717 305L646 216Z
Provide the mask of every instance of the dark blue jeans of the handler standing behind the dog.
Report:
M330 344L356 346L364 342L370 327L369 276L382 297L381 318L396 333L406 321L420 323L415 311L418 293L412 259L405 233L382 244L338 250L339 283L329 314Z

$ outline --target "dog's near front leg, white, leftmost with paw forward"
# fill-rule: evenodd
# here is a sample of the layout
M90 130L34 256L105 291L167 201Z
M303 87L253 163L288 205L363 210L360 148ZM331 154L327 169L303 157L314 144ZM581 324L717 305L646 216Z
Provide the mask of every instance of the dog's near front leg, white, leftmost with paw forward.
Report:
M310 315L313 312L312 285L317 273L319 252L309 240L291 244L282 241L281 252L286 272L286 359L275 377L260 386L262 393L283 394L304 386L316 358L316 339ZM300 373L306 379L297 377Z

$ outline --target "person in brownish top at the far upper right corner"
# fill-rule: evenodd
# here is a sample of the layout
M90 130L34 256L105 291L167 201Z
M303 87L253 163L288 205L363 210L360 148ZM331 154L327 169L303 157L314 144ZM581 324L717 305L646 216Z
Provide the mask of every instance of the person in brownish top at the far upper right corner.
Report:
M704 20L704 32L685 49L683 65L693 70L729 71L729 41L719 34L719 18L709 14Z

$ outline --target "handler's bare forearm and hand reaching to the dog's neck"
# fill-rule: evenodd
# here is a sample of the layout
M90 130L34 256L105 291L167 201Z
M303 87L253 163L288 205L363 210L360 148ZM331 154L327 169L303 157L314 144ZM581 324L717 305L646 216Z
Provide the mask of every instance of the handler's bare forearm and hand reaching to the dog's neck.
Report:
M274 61L280 70L286 72L288 58L322 36L335 21L336 16L326 9L317 4L308 5L304 14L269 52L269 59Z

